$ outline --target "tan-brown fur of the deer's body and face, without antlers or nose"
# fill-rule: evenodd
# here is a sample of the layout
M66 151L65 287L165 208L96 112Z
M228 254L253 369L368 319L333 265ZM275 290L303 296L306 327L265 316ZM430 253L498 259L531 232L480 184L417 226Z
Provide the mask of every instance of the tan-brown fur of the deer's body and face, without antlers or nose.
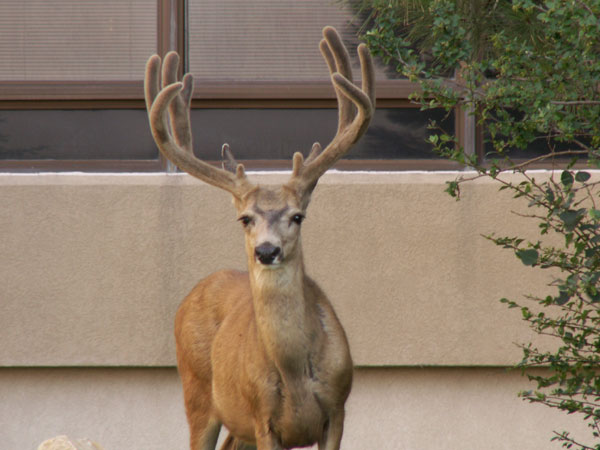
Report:
M283 188L276 194L260 188L247 201L261 211L280 210L281 197L289 194ZM273 224L258 215L253 220L246 228L249 273L210 275L175 319L192 448L210 448L204 442L221 423L259 448L312 445L327 429L339 442L352 383L345 333L323 292L304 274L300 227L287 216ZM274 233L285 257L276 267L264 266L253 248Z

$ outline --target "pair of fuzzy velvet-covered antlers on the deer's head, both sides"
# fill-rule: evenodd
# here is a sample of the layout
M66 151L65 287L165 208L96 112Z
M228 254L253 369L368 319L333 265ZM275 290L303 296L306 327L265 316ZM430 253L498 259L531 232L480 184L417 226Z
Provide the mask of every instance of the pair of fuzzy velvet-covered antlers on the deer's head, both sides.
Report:
M335 28L325 27L323 37L320 49L337 96L338 130L325 150L321 151L321 145L315 143L306 160L301 153L294 154L292 178L288 184L308 194L321 175L365 133L375 109L375 75L367 47L364 44L358 46L362 71L362 87L359 88L352 81L350 58ZM244 166L233 159L227 144L222 149L223 169L227 170L218 169L194 156L190 127L194 83L189 73L178 82L178 67L179 56L169 52L162 63L161 83L160 57L154 55L146 64L144 92L154 140L167 159L181 170L241 198L254 186L246 178Z

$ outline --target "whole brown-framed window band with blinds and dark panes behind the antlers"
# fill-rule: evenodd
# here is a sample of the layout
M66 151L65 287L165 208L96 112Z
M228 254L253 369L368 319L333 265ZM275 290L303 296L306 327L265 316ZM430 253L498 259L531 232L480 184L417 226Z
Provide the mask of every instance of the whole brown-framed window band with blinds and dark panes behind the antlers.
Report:
M196 80L199 157L228 142L251 168L290 167L336 129L320 31L334 25L355 55L360 24L334 0L3 0L0 170L164 170L142 78L148 56L169 49ZM377 85L375 118L341 167L442 167L425 137L444 114L411 105L413 86L381 65Z

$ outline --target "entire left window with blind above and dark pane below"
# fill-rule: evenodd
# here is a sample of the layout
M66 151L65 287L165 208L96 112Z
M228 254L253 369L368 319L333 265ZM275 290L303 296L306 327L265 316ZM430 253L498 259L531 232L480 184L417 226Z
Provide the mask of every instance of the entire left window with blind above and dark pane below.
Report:
M0 168L160 168L141 109L142 77L146 58L165 46L169 7L0 2Z

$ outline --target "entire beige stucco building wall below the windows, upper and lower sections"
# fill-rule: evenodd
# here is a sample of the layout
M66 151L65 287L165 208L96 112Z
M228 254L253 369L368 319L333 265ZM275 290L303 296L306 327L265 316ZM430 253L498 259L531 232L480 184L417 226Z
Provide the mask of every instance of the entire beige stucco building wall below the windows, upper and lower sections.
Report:
M344 449L545 449L566 424L504 369L534 336L498 299L549 274L481 237L535 225L486 180L456 202L457 175L331 173L314 193L307 271L357 366ZM0 203L0 448L185 448L173 316L197 280L244 267L228 194L187 175L2 175Z

